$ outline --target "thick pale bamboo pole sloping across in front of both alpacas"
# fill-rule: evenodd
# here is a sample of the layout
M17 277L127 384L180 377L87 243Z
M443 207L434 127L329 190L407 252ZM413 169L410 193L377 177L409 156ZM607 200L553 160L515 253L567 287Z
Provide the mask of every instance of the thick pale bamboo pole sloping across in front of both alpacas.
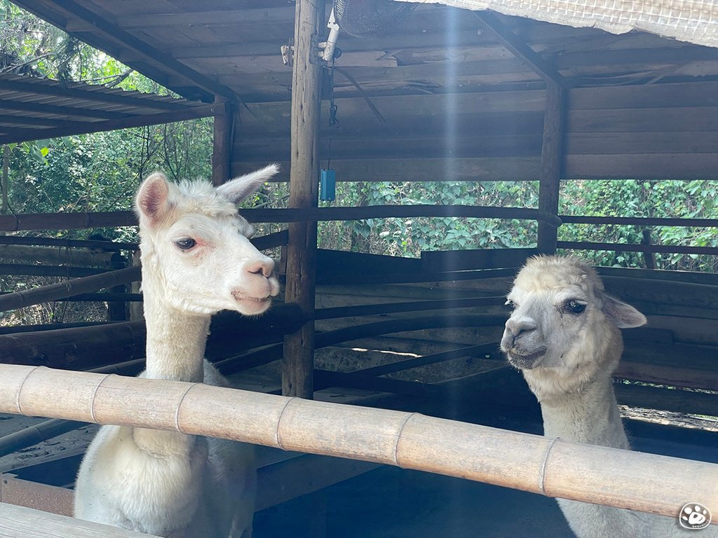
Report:
M0 412L209 435L663 516L689 501L718 511L714 463L200 383L12 364L0 379Z

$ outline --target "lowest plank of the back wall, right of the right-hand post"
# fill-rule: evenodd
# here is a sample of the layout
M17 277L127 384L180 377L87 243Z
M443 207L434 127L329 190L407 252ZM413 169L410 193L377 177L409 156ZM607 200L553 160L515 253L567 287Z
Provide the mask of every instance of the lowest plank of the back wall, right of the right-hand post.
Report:
M718 179L718 153L567 155L564 179Z

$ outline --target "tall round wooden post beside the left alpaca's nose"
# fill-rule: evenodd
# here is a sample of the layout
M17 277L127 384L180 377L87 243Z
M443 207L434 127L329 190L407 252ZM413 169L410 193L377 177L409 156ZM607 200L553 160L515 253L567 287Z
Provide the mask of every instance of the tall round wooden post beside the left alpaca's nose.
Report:
M320 75L319 21L323 9L311 0L299 0L294 19L292 72L292 169L289 207L317 207L319 196ZM311 398L314 393L314 284L317 260L317 223L289 225L286 249L287 303L299 303L308 320L284 338L282 394Z

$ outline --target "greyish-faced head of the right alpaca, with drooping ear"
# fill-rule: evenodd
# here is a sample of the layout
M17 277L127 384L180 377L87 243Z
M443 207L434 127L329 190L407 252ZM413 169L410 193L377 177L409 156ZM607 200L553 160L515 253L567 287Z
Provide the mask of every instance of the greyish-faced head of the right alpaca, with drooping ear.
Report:
M538 400L610 378L623 351L619 329L646 321L633 306L608 296L595 270L574 257L531 258L507 299L513 312L501 350Z

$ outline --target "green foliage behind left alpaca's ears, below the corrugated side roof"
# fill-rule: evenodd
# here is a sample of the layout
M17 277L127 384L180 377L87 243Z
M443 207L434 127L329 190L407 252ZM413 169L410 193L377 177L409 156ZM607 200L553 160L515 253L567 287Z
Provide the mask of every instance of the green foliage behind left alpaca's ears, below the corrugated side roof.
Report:
M14 213L105 212L132 209L146 174L170 179L211 176L211 118L43 141L11 153L9 202ZM37 151L37 154L34 153ZM42 156L42 159L39 159ZM29 158L31 157L31 158ZM131 240L134 230L74 230L62 237L102 233ZM47 235L47 234L45 234ZM52 235L52 234L51 234Z

